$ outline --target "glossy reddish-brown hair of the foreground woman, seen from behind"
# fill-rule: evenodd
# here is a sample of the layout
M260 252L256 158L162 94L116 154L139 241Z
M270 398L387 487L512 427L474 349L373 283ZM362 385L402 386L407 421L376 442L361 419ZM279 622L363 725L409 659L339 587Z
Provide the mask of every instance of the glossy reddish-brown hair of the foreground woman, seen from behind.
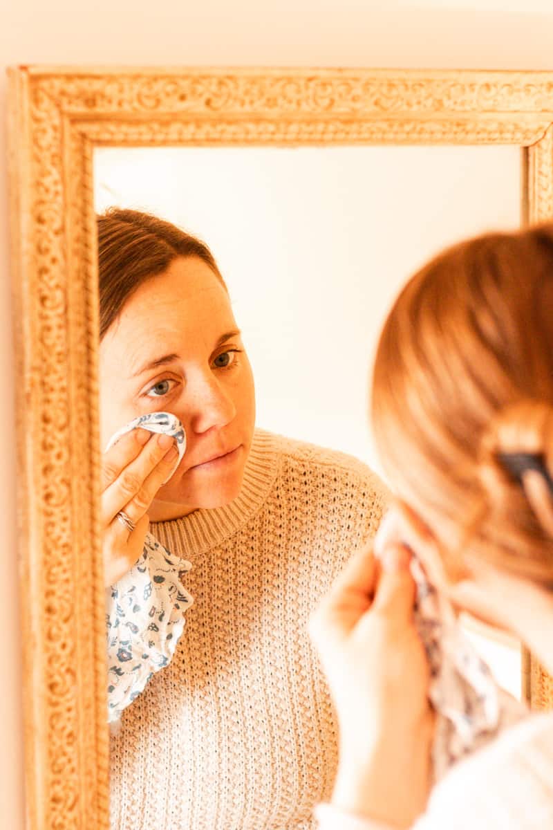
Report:
M553 225L463 242L410 280L381 334L371 408L385 472L451 574L467 546L553 579L553 498L536 500L508 463L526 453L553 469Z

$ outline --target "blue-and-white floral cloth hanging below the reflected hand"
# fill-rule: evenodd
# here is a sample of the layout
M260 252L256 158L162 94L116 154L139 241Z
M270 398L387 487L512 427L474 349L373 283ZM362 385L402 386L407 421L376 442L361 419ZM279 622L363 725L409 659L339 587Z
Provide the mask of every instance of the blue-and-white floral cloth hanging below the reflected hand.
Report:
M109 588L108 720L144 689L170 662L184 629L184 612L193 603L182 585L192 568L147 534L138 562Z

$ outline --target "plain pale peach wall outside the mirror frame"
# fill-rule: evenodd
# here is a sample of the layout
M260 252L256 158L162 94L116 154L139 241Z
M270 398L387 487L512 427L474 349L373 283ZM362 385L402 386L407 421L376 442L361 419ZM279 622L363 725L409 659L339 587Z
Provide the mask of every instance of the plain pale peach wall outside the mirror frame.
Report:
M3 66L49 64L381 66L553 70L550 0L0 0ZM6 85L0 77L0 106ZM20 660L13 489L12 312L5 134L0 134L0 815L23 828ZM25 595L23 603L32 602Z

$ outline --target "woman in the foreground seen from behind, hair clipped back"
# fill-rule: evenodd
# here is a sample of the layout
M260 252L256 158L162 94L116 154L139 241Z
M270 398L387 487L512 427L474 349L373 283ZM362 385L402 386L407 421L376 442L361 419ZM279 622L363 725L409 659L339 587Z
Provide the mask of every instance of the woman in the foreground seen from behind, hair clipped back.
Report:
M553 674L553 225L464 242L413 277L381 334L372 424L400 503L381 559L357 554L313 616L341 731L319 826L553 827L551 714L430 791L410 575L415 551L454 608L520 637Z

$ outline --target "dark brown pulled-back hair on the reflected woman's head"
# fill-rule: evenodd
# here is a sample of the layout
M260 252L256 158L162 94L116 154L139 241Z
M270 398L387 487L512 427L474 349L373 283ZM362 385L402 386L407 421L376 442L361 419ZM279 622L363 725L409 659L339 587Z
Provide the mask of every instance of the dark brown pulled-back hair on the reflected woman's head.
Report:
M163 219L111 207L98 219L99 336L117 320L138 286L167 271L178 256L197 256L225 287L204 242Z

